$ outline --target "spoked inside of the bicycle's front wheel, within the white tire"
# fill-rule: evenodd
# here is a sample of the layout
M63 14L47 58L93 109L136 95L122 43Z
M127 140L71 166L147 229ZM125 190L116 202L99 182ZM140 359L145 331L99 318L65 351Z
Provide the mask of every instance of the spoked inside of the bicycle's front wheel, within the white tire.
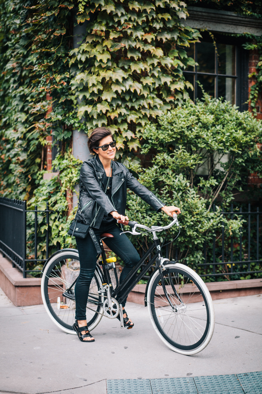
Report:
M173 309L165 295L160 275L155 277L148 305L155 311L152 316L159 332L169 343L179 349L197 347L204 340L209 324L203 292L183 269L172 269L173 272L171 268L167 273L163 272L163 284Z

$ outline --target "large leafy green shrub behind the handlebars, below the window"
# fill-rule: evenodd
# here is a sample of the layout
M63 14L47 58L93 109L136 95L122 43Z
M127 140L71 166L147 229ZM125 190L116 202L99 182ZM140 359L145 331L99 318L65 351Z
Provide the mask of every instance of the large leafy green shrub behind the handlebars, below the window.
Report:
M211 246L215 233L237 234L241 220L222 220L221 207L233 193L245 188L249 172L261 171L262 122L249 112L239 112L223 99L204 95L197 104L185 103L146 126L142 154L153 152L152 165L129 164L140 181L167 205L181 208L181 233L169 255L196 267L203 262L204 241ZM133 193L128 195L129 216L146 225L167 225L170 218L155 214ZM216 204L215 212L213 204ZM173 228L168 236L175 236ZM146 242L148 235L145 237ZM133 242L142 245L137 237Z

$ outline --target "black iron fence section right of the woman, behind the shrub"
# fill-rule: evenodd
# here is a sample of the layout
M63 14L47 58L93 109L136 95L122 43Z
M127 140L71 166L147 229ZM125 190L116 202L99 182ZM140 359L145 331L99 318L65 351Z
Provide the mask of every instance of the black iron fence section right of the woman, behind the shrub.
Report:
M211 242L204 243L203 263L196 264L193 268L205 281L237 280L249 278L262 278L262 259L261 259L261 215L259 207L251 210L251 204L247 204L247 210L242 210L231 204L229 212L222 210L223 219L243 219L242 227L235 235L225 232L225 227L216 231ZM216 210L215 204L213 210ZM179 238L177 240L179 245ZM166 246L163 251L166 258L177 261L179 248L176 247L170 253L170 246ZM151 256L149 256L149 259ZM183 261L182 263L186 263ZM143 267L142 267L143 268ZM146 273L143 279L148 279L148 275L154 270L154 265ZM205 279L206 278L206 279Z

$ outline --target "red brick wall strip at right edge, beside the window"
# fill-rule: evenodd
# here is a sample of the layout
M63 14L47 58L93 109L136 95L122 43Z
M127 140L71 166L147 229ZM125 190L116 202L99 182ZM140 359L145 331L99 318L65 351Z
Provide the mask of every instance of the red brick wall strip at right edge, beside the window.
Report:
M252 73L257 73L257 64L259 63L259 53L257 49L254 49L252 51L249 51L249 64L248 64L248 71L249 74ZM251 86L253 86L257 81L256 75L253 75L252 78L249 78L248 81L248 87L249 87L249 92L251 89ZM252 111L250 102L248 106L249 111ZM257 110L257 119L262 119L262 92L259 93L257 104L256 104L256 110ZM257 144L259 149L262 150L262 143ZM248 185L249 186L258 186L261 187L262 185L262 178L260 174L257 172L253 172L252 174L249 175L248 177Z

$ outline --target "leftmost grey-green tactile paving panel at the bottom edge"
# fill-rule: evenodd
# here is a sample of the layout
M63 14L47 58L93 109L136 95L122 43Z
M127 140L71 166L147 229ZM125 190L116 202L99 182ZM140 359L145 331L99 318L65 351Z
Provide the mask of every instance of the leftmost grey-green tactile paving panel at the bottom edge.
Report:
M152 394L149 379L109 379L107 394Z

